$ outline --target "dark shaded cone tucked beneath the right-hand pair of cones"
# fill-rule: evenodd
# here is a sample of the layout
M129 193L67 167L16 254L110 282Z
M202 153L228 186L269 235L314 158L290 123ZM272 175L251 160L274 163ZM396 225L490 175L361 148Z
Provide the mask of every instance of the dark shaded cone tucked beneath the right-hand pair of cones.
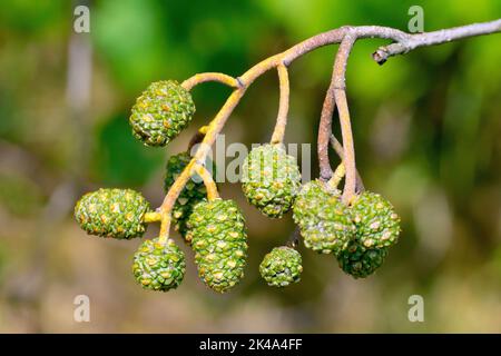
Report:
M387 256L387 248L366 248L358 241L352 241L337 256L337 261L344 273L354 278L365 278L372 275Z

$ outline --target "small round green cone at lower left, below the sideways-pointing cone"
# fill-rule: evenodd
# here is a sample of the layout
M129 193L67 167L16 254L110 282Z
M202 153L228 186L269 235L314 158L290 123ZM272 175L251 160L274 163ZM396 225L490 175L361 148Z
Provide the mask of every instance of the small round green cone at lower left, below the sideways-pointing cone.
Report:
M134 255L132 274L145 289L176 289L185 276L185 254L174 240L146 240Z

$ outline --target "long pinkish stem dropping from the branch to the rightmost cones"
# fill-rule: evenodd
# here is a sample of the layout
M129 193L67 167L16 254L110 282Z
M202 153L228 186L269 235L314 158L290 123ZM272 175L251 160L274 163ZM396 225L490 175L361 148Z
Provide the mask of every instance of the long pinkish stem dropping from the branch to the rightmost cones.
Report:
M347 58L355 43L356 36L346 34L340 44L336 59L334 61L334 98L340 113L341 134L343 136L344 166L346 167L346 181L343 190L343 201L348 204L355 195L356 187L356 166L355 166L355 146L353 142L352 123L350 120L350 110L346 100L345 72Z

